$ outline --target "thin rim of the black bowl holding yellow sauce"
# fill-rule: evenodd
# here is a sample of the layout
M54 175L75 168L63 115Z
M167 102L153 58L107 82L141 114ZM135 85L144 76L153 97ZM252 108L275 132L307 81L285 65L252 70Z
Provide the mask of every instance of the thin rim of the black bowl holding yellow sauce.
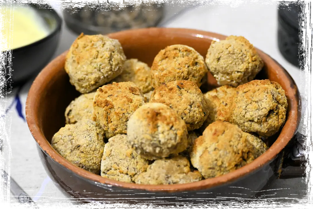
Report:
M28 2L30 3L31 1L33 0L28 0ZM61 28L62 28L62 18L60 17L60 15L45 1L43 0L35 0L35 2L38 2L39 4L42 4L45 8L47 8L50 13L52 14L52 16L54 17L54 19L56 20L57 22L57 25L55 27L54 30L52 30L49 35L45 36L44 38L42 39L39 39L33 43L30 43L28 45L25 45L25 46L21 46L21 47L18 47L18 48L15 48L15 49L10 49L8 51L0 51L0 56L1 55L7 55L7 54L10 54L10 53L14 53L16 51L22 51L28 47L32 47L32 46L36 46L36 45L39 45L41 43L43 43L44 41L50 39L51 37L53 37L55 34L57 34ZM37 11L37 8L31 6L33 9L35 9Z

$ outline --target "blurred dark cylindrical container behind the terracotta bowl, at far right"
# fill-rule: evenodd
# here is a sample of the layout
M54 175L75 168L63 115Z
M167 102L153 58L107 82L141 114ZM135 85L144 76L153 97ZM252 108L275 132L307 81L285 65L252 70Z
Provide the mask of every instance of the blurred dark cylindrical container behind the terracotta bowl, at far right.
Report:
M313 14L311 0L281 0L278 9L278 46L290 63L312 71Z

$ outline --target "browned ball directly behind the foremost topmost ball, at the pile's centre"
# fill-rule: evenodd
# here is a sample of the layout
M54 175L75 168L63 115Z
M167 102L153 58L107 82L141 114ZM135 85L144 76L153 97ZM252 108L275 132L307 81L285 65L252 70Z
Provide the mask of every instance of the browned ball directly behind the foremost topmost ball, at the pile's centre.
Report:
M204 95L192 81L164 83L154 90L150 102L162 103L176 110L188 131L200 128L209 114Z

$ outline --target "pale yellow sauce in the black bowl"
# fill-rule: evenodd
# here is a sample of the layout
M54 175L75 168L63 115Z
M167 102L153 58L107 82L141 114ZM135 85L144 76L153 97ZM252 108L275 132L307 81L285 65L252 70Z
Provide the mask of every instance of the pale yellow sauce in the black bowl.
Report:
M49 34L42 17L23 3L0 3L0 53L36 42Z

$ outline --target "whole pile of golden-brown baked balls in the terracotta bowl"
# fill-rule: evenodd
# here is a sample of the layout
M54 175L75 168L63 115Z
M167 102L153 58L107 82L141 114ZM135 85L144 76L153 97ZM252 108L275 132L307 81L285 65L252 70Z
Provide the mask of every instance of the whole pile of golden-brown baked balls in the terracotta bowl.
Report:
M264 62L242 36L212 41L206 58L162 49L151 68L126 59L118 40L81 34L66 56L81 95L52 147L102 177L145 185L195 182L252 162L285 123L280 84L254 80ZM210 72L220 87L203 94Z

